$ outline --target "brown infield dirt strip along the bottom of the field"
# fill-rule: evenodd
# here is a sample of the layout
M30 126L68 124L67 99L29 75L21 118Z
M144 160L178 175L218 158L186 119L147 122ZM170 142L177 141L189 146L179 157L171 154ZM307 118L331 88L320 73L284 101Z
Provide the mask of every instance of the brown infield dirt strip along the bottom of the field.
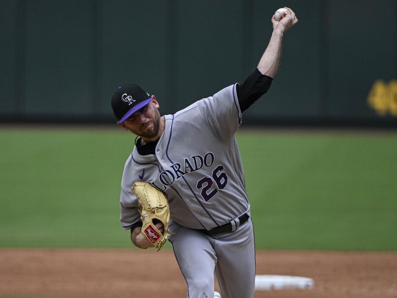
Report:
M170 250L0 249L0 264L0 296L186 297ZM309 277L315 288L256 298L397 297L396 252L258 251L257 274Z

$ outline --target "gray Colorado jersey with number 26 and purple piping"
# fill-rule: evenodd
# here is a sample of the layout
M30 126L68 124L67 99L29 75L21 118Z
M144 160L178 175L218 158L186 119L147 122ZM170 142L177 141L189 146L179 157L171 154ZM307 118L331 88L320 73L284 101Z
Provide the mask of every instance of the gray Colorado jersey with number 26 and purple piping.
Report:
M165 130L155 154L140 155L134 148L125 164L120 198L123 227L129 229L140 221L131 193L135 181L150 182L165 192L171 220L188 228L211 229L249 213L235 138L242 119L236 85L163 117Z

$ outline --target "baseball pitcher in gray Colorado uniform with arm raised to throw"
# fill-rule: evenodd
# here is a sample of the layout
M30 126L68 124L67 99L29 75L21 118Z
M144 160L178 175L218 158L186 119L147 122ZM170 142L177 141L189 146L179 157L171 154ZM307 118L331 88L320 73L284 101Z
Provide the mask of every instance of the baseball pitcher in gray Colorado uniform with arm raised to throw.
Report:
M189 298L214 296L214 272L223 298L254 297L254 229L235 135L277 72L283 36L298 21L287 9L272 17L268 46L244 83L162 117L161 99L135 84L112 97L117 123L137 136L123 172L121 222L137 247L170 241Z

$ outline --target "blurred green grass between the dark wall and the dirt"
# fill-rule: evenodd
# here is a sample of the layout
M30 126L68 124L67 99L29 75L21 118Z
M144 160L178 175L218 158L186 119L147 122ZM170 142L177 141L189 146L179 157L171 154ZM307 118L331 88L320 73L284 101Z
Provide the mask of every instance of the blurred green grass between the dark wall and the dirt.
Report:
M397 250L397 133L240 131L258 249ZM117 129L0 129L0 247L130 247Z

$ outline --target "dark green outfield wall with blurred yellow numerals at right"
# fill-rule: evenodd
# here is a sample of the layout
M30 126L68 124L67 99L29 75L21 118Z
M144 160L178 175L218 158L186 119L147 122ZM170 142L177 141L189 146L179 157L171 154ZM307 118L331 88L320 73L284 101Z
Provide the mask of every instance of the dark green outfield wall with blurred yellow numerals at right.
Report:
M114 123L127 83L175 112L243 82L284 5L299 24L244 123L396 127L396 0L2 0L0 120Z

